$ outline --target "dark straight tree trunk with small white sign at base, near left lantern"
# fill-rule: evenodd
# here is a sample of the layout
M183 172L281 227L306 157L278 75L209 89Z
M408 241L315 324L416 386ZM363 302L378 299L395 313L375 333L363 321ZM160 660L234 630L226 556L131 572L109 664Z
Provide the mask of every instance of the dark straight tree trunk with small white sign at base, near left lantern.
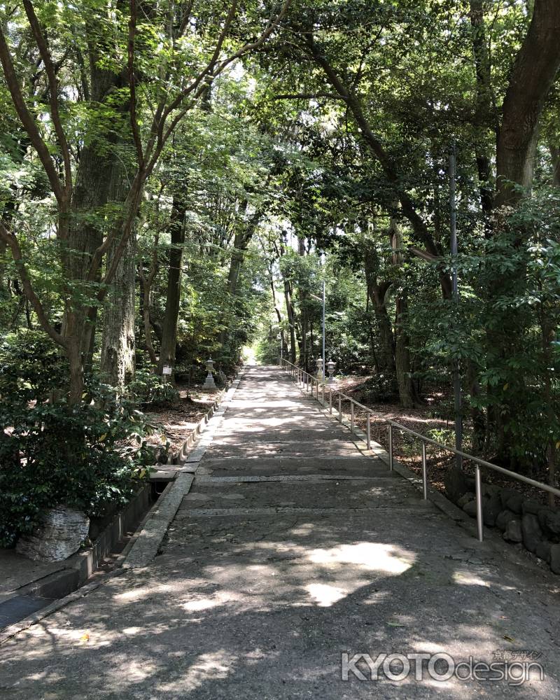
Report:
M175 197L171 218L171 248L169 249L169 272L167 274L167 296L163 320L162 347L158 374L163 367L173 367L177 347L177 324L181 306L181 281L183 279L183 253L185 251L185 210L186 204Z

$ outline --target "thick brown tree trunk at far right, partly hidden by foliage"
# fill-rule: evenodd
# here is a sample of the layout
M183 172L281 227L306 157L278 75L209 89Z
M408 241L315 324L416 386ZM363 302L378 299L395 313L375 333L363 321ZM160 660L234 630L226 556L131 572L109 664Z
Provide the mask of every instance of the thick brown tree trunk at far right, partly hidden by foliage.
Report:
M557 0L535 0L533 17L517 53L503 102L496 148L496 208L505 204L514 206L531 190L539 119L560 68L559 36L560 3ZM525 237L522 230L507 232L499 227L494 228L493 235L506 236L505 243L512 246L512 258L514 248ZM504 310L500 299L524 293L525 279L524 269L516 266L511 272L494 276L489 284L488 304L494 323L486 334L486 359L498 370L507 366L507 358L523 342L524 332L519 329L512 309ZM496 458L502 463L510 463L512 458L512 433L507 426L521 420L518 417L519 404L514 397L526 391L521 374L512 374L509 384L507 391L501 385L489 388L489 434L496 435Z

